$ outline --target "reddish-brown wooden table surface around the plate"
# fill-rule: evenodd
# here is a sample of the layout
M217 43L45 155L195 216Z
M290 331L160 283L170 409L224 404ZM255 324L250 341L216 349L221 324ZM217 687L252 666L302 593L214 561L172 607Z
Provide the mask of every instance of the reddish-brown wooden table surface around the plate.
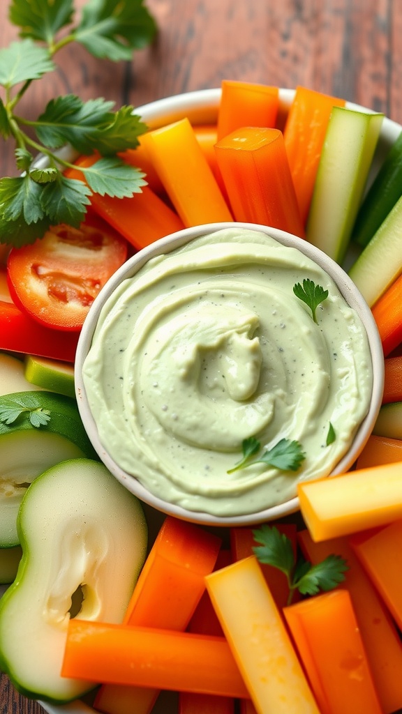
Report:
M16 39L0 3L0 45ZM84 0L76 0L79 9ZM73 92L139 106L220 86L222 79L298 84L383 111L402 123L402 13L398 0L148 0L159 34L131 63L96 61L69 46L58 69L31 86L21 114L35 118L49 99ZM0 175L15 175L1 147ZM0 714L41 714L0 675Z

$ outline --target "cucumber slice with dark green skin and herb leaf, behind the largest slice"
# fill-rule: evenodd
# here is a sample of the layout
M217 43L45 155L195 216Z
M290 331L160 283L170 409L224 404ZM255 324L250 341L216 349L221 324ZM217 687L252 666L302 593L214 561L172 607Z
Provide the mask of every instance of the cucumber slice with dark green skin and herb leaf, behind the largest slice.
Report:
M42 471L67 458L97 458L82 426L77 403L46 391L24 391L0 397L0 409L18 400L49 411L46 425L34 427L30 412L12 423L0 421L0 547L19 544L16 516L26 488ZM0 412L1 413L1 412Z

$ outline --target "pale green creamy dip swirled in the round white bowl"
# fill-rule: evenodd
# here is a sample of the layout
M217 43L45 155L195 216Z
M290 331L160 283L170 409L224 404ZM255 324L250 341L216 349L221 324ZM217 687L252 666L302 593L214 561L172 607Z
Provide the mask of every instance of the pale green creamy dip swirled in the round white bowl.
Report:
M305 278L329 293L318 324L293 293ZM368 412L373 375L361 319L332 278L296 248L234 227L119 285L83 380L99 439L124 471L182 508L238 516L333 470ZM298 441L305 460L295 472L227 473L251 436L263 449Z

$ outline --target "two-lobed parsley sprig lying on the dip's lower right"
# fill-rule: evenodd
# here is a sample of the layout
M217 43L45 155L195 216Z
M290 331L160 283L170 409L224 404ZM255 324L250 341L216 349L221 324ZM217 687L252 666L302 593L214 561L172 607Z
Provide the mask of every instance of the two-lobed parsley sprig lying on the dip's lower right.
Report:
M261 444L254 436L242 442L242 459L230 468L227 473L233 473L240 468L247 468L251 463L266 463L268 466L279 468L280 471L298 471L300 464L305 459L305 453L298 441L280 439L272 448L254 458L261 451Z

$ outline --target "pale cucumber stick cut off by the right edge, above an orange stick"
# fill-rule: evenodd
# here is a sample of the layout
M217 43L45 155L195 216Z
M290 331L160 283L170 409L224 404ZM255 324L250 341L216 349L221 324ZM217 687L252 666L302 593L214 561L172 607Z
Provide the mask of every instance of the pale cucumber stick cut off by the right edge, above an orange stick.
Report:
M368 306L373 307L402 273L402 197L349 270Z

